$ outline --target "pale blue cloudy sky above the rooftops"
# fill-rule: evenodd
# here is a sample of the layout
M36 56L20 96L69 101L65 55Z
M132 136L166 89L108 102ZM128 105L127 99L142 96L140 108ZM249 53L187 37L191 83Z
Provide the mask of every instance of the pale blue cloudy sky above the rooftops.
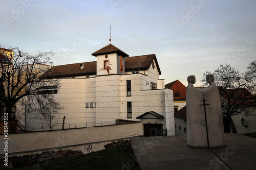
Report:
M155 54L165 84L256 59L256 1L1 1L0 44L50 52L54 65L96 61L111 44L130 56Z

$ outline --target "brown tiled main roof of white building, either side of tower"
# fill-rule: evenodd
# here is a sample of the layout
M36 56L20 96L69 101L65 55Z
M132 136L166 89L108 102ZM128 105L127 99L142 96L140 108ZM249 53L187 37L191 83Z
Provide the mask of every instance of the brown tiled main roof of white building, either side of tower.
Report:
M155 65L158 69L159 75L161 71L156 59L155 54L135 56L125 58L125 71L137 71L148 69L151 66L152 61L155 61ZM80 64L83 64L84 68L80 69ZM58 65L50 68L41 78L60 78L60 77L74 77L74 76L85 76L85 75L96 75L97 63L84 62L76 64Z

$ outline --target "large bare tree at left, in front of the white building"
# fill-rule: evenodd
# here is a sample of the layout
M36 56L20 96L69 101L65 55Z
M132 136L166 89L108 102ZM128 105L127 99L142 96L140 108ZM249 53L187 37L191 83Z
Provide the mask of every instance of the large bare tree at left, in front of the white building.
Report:
M23 105L27 107L25 112L33 111L35 115L40 115L42 122L51 120L49 125L53 127L53 114L56 115L61 107L54 100L54 95L48 93L48 87L57 87L59 84L57 80L41 80L39 77L50 68L50 59L54 53L38 52L30 55L14 47L8 50L1 48L0 54L0 101L4 103L8 120L16 119L12 108L18 102L24 104L26 101L26 105Z

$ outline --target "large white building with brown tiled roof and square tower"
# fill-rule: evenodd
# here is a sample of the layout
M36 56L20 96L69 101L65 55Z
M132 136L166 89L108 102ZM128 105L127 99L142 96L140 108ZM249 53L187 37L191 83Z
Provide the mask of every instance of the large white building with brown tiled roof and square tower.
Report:
M112 44L92 55L97 61L53 66L43 75L60 80L60 87L48 90L63 106L59 118L62 123L66 116L66 129L122 119L141 121L145 136L175 135L173 90L159 79L156 55L129 57ZM31 126L45 128L39 121Z

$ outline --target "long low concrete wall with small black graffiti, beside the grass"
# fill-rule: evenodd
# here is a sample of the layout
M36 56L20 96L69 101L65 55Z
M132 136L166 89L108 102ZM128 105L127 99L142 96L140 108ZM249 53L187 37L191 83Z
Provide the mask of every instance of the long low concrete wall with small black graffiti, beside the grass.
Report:
M88 153L86 145L92 145L93 150L104 149L103 144L110 141L142 135L142 124L124 124L80 129L42 131L8 135L8 155L31 154L44 150L72 149ZM0 135L0 148L4 147L4 135ZM0 151L4 154L4 150Z

